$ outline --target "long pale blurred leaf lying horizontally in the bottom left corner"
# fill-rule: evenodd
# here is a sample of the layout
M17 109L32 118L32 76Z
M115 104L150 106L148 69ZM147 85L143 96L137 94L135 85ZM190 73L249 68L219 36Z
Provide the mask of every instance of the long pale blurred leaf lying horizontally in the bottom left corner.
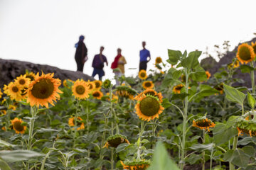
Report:
M43 156L43 154L31 151L31 150L13 150L13 151L2 150L2 151L0 151L1 159L4 159L6 162L24 161L27 159L41 157L41 156Z

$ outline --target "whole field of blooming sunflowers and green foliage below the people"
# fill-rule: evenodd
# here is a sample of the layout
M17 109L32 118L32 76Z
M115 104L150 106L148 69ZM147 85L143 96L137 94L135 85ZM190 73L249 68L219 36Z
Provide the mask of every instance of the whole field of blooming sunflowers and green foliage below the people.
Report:
M0 169L256 169L255 54L210 75L168 50L121 86L26 72L0 89Z

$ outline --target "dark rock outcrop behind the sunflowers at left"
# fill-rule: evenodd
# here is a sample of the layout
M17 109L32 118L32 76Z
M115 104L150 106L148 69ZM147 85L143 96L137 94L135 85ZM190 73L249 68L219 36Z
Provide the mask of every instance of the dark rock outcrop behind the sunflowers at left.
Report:
M33 64L31 62L21 62L18 60L3 60L0 59L0 87L2 88L4 84L9 84L10 81L13 81L16 77L21 74L26 73L26 69L29 72L37 73L43 71L45 74L54 73L54 77L61 79L84 79L91 80L94 79L87 74L83 74L82 72L73 72L65 69L59 69L57 67L52 67L49 65L43 64Z

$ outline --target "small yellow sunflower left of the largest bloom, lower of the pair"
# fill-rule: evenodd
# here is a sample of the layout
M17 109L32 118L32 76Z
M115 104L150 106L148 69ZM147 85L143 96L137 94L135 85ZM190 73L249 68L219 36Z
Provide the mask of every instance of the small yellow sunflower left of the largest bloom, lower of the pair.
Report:
M11 100L20 101L21 100L21 89L19 84L11 82L8 84L6 94L10 96Z

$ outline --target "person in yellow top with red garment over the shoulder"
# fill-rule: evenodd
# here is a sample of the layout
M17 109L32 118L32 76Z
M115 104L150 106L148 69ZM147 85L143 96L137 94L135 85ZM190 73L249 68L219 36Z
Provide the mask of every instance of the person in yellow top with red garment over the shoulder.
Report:
M114 57L114 62L111 64L111 68L116 76L116 84L120 85L118 78L124 74L124 64L127 64L124 56L121 54L122 50L120 48L117 49L117 56ZM118 69L117 69L118 68Z

